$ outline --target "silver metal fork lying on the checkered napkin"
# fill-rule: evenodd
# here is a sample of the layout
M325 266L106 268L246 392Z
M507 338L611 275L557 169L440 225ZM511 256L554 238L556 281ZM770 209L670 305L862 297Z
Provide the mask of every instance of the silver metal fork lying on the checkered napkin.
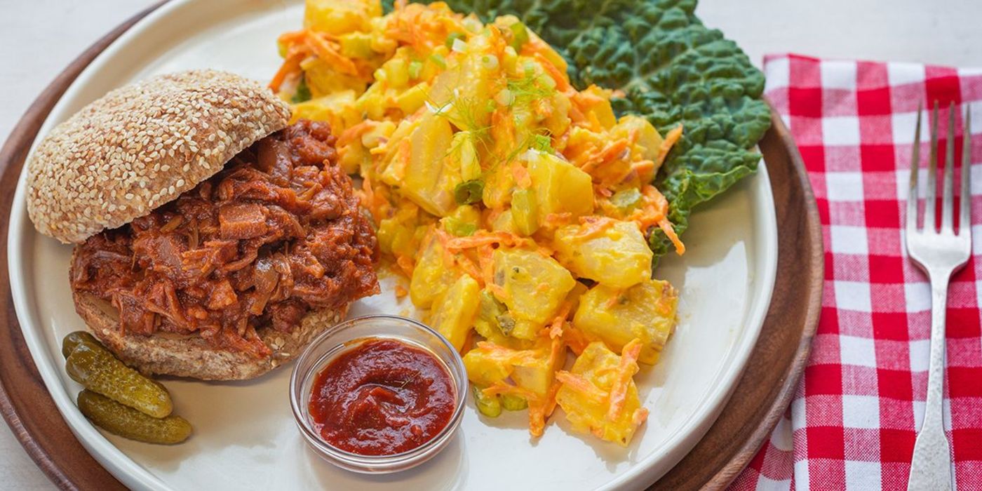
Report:
M965 111L962 131L961 199L958 232L955 234L955 104L949 109L948 145L945 155L944 194L942 196L941 230L935 223L935 193L938 167L938 103L931 118L931 161L927 170L927 196L924 206L924 227L917 228L917 168L920 160L920 120L917 110L917 129L910 162L910 192L907 196L906 244L907 254L931 279L931 360L927 375L927 403L924 422L914 442L907 491L941 491L952 489L952 458L942 411L945 386L945 307L948 303L948 282L961 269L971 253L971 168L970 113Z

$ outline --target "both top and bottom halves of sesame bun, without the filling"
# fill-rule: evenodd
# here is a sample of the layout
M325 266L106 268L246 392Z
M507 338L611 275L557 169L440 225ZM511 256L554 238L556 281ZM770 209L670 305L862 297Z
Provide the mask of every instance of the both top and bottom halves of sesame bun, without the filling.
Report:
M28 214L40 233L82 243L193 189L289 120L289 106L268 88L223 72L164 75L113 90L56 127L31 154ZM257 329L272 351L257 358L199 336L126 335L111 303L75 290L73 300L88 330L125 363L148 374L202 380L262 375L300 355L348 312L347 304L311 311L290 334Z

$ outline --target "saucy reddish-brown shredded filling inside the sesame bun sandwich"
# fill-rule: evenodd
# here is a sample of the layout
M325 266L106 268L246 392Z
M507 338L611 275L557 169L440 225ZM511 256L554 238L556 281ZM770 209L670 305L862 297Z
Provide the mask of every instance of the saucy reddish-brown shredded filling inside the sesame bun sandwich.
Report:
M378 293L377 243L326 123L255 142L177 199L78 246L78 292L111 301L126 334L198 335L270 355L311 309Z

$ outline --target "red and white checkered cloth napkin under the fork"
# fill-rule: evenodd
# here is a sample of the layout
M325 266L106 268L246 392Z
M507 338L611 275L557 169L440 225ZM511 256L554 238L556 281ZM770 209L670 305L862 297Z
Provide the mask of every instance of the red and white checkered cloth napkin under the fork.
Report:
M818 202L825 288L790 420L733 489L906 489L927 391L931 296L902 227L917 105L937 100L942 136L949 102L974 102L973 257L949 290L945 426L957 489L982 490L982 70L780 55L765 59L764 72L765 96L791 129ZM961 124L959 114L955 162Z

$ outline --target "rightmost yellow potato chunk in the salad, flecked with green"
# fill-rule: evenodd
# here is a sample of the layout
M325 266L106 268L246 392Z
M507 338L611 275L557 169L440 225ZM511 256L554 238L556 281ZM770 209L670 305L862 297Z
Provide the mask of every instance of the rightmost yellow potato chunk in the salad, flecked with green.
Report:
M645 280L627 290L598 284L579 299L573 326L614 350L642 343L642 363L654 364L676 323L678 294L666 281Z

